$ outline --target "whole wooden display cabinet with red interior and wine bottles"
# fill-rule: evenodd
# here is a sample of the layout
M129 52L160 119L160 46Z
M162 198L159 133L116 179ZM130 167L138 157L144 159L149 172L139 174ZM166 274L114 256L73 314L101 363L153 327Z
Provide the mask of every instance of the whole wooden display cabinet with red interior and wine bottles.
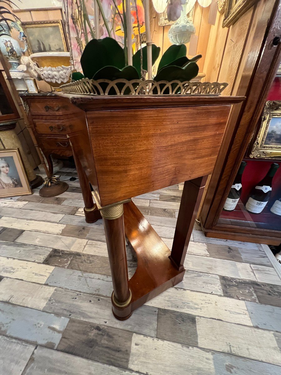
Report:
M235 131L208 181L197 217L207 237L281 243L280 13L269 20L246 100L229 118Z

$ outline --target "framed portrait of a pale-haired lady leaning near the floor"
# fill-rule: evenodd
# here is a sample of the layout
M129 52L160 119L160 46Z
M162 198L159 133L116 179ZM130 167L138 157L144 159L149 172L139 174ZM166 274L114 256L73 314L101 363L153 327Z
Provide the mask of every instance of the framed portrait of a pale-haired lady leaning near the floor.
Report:
M0 150L0 198L32 194L18 148Z

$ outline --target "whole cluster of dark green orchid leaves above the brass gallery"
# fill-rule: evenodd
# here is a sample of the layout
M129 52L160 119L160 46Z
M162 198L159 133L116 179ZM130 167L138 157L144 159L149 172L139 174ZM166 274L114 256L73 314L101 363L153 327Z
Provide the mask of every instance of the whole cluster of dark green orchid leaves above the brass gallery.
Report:
M157 74L154 81L190 81L196 77L199 68L196 62L201 58L197 55L192 59L186 57L187 49L183 45L172 45L161 57ZM160 54L160 47L152 44L152 65L154 65ZM142 48L143 69L147 71L147 49ZM141 51L133 55L133 65L126 66L124 49L115 39L106 37L104 39L92 39L86 45L81 56L81 66L84 77L110 81L118 78L125 80L141 79ZM72 80L83 78L81 73L74 73Z

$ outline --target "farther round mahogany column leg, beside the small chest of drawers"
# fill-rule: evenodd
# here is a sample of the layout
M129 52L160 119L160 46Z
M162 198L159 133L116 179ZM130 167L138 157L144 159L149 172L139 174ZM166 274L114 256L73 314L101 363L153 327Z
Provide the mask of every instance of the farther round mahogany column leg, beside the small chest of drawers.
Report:
M97 205L93 201L93 195L90 188L90 183L88 181L87 175L82 167L80 160L75 156L73 152L73 157L77 169L77 174L79 177L79 183L82 190L83 200L84 200L84 214L85 220L87 223L94 223L97 220L101 219L100 211L97 208Z

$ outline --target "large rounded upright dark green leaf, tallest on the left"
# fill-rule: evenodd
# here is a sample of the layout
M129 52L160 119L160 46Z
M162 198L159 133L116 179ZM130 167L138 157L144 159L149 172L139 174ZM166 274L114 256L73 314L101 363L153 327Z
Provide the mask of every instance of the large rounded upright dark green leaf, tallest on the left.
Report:
M124 68L125 54L115 39L109 37L92 39L85 46L80 62L84 76L92 79L100 69L106 66Z

